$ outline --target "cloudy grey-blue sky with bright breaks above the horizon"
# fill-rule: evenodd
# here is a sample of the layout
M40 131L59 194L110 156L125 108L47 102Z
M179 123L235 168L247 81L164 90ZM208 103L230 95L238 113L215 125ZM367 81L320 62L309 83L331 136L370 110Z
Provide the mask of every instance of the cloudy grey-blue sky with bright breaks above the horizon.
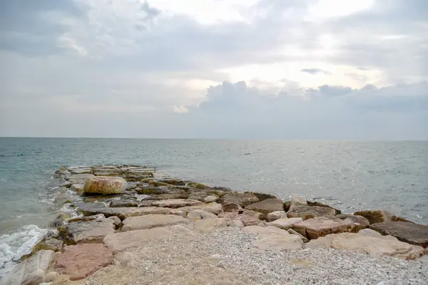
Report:
M426 0L3 0L0 136L428 140Z

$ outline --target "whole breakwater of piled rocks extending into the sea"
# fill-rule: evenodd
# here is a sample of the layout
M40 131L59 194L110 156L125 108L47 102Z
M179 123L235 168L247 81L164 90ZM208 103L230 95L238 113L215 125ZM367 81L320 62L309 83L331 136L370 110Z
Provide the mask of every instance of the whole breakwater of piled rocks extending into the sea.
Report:
M58 195L73 194L61 202L78 214L59 214L58 234L36 244L6 284L68 284L136 262L129 250L165 239L191 243L219 231L248 234L250 247L262 252L323 248L407 260L428 246L428 226L379 210L342 214L320 202L158 177L136 165L62 167L56 175Z

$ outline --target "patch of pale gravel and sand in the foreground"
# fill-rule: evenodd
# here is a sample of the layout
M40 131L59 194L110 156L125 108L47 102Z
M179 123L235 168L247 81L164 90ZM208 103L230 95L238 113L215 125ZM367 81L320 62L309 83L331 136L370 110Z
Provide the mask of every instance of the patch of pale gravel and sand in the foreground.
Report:
M252 244L260 237L242 229L173 229L173 237L118 254L84 284L428 284L426 261L335 249L260 251Z

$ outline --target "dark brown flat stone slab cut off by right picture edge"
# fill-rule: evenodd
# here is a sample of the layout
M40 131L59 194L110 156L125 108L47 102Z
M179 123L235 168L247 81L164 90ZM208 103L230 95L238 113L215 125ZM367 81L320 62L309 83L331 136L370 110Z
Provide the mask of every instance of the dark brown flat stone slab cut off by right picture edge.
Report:
M428 247L428 226L410 222L382 222L372 224L371 229L384 235L392 235L402 242Z

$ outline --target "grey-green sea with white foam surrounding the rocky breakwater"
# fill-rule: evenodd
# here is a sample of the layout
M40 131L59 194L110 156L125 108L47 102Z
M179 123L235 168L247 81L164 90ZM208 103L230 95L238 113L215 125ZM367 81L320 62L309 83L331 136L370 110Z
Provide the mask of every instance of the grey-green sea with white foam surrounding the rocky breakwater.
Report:
M0 138L0 276L49 231L62 166L146 165L163 176L385 209L428 224L427 141Z

